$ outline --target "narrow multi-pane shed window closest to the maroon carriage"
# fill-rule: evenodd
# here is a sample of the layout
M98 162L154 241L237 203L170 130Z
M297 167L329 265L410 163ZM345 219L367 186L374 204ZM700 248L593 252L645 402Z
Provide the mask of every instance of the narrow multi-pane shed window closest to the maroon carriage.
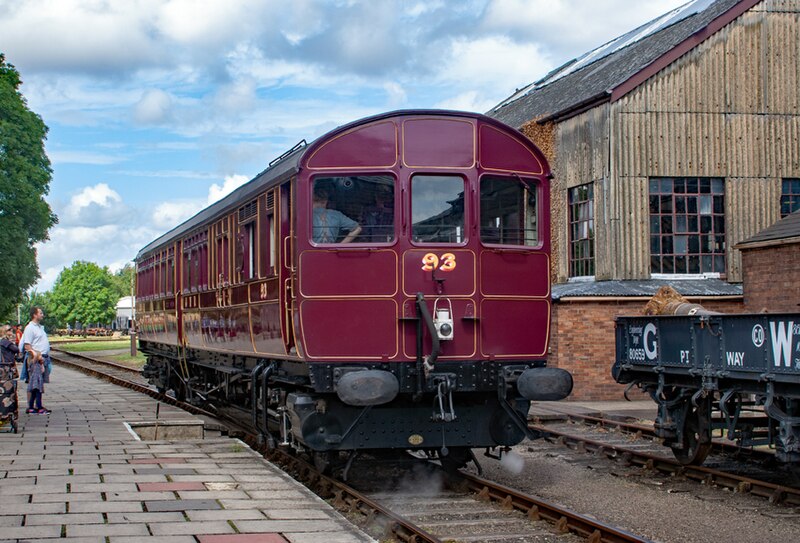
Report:
M569 275L594 275L594 185L569 189Z

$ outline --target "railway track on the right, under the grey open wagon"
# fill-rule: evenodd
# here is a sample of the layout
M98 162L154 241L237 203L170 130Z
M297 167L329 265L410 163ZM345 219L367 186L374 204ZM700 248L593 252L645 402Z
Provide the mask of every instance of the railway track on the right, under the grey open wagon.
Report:
M607 421L605 421L607 422ZM623 435L619 432L598 431L574 422L529 424L530 428L549 434L547 439L571 450L593 454L629 466L639 466L669 476L681 476L706 485L716 485L735 492L750 493L767 498L771 503L800 505L800 488L778 484L769 480L775 472L761 469L753 462L741 462L717 469L709 466L680 464L670 456L666 449L653 440L636 439L636 434ZM616 435L615 435L616 434ZM710 463L713 463L710 459ZM725 461L719 461L721 466ZM736 473L738 471L739 473ZM742 471L749 475L740 474Z

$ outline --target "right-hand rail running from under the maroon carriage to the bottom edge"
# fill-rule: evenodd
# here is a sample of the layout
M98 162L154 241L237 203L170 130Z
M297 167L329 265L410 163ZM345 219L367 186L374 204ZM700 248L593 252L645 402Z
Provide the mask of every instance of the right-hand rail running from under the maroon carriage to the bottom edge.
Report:
M467 483L469 489L476 493L478 499L497 502L505 509L522 511L533 521L546 520L555 525L558 533L571 533L585 538L590 543L649 541L630 532L555 505L542 498L522 494L513 488L467 473L459 473L459 476Z

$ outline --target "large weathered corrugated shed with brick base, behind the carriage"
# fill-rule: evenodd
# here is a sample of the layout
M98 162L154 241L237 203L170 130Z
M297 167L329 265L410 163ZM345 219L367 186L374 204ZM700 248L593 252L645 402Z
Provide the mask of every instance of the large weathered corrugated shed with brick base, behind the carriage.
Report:
M551 364L618 399L613 318L669 284L744 310L737 243L800 207L800 0L695 0L488 114L555 179Z

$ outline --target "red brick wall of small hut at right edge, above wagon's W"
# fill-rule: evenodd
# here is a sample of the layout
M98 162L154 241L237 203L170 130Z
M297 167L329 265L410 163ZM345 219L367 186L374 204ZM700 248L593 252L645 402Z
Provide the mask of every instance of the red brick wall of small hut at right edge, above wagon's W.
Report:
M800 243L742 249L748 313L800 313Z

